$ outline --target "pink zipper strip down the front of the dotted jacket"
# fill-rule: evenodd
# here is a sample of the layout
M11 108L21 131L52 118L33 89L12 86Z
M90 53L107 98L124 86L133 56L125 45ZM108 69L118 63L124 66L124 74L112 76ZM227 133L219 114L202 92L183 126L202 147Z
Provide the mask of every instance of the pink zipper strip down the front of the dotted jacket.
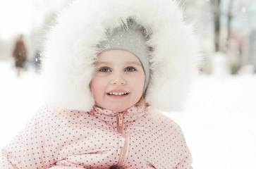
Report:
M123 134L123 115L125 112L120 112L118 113L118 115L116 116L116 124L117 124L117 131L118 133L122 134L121 139L121 151L120 151L120 155L118 158L118 162L116 163L116 166L119 166L124 158L125 158L125 154L126 154L126 146L127 146L127 137L126 134Z

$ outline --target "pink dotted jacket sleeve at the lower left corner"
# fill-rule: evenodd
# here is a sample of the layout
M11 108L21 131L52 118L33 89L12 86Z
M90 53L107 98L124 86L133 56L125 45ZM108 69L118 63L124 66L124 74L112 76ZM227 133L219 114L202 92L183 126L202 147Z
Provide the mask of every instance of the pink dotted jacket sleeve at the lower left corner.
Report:
M47 106L33 118L0 153L0 168L50 168L54 164L51 151Z

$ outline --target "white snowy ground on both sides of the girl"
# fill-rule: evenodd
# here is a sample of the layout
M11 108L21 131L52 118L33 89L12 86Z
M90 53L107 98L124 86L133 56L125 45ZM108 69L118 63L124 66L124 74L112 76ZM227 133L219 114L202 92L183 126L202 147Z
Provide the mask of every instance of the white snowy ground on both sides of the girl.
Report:
M43 103L42 80L29 68L17 78L0 61L0 149ZM181 125L195 169L255 169L256 76L224 80L203 76L193 86L186 111L169 114Z

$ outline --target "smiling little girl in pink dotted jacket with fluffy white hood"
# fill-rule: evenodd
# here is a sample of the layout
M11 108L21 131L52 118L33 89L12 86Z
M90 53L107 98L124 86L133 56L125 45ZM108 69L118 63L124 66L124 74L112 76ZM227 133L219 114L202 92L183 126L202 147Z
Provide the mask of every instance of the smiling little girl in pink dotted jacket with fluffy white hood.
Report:
M171 0L76 0L49 32L48 102L0 168L192 168L180 111L199 50Z

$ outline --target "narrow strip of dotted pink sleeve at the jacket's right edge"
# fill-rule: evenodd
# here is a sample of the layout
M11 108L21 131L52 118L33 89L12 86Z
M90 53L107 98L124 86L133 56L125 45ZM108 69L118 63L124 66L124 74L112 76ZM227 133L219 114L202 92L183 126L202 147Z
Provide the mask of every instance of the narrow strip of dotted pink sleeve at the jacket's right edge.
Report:
M192 156L190 154L190 150L185 142L185 138L183 132L181 131L181 127L178 127L178 153L176 157L177 165L174 167L175 169L193 169L192 167Z

